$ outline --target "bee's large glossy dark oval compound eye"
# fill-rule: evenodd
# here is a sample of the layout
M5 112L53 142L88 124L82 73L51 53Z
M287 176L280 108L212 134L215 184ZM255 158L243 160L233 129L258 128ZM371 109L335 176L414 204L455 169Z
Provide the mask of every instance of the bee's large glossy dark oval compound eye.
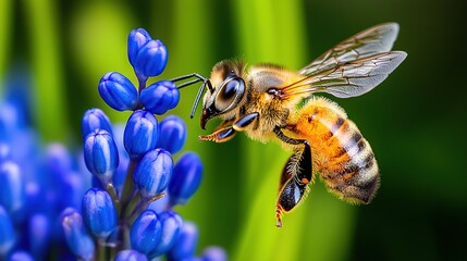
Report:
M232 109L245 92L245 84L242 78L232 78L225 83L216 97L216 109L225 112Z

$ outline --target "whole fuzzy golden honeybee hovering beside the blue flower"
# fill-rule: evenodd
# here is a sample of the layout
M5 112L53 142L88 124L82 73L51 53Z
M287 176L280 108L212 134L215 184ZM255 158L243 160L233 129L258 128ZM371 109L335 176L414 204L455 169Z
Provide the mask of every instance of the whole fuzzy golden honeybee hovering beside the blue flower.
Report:
M217 63L209 78L191 74L174 78L183 88L202 82L192 117L202 99L200 126L216 117L223 122L201 140L224 142L244 132L254 140L275 140L293 151L279 182L276 226L284 213L306 198L316 176L328 190L353 203L369 203L380 176L374 153L358 127L335 102L315 96L361 96L382 83L407 57L391 51L398 25L385 23L342 41L298 72L274 64L247 70L242 61Z

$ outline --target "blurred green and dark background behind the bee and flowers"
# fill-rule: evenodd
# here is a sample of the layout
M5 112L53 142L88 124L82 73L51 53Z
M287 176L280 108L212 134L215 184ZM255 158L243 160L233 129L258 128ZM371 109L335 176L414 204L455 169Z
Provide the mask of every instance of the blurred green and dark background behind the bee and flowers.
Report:
M196 87L175 113L189 126L186 149L205 163L205 179L177 210L195 221L200 246L224 247L231 260L467 260L467 1L200 0L0 1L0 79L13 64L33 72L35 123L49 141L79 145L83 112L116 113L97 92L126 60L131 29L146 28L169 49L159 77L200 73L223 59L273 62L298 70L372 25L401 25L394 49L406 61L377 89L337 101L370 141L382 186L369 206L328 194L321 182L274 226L279 174L288 153L241 134L200 142ZM216 124L211 123L211 130Z

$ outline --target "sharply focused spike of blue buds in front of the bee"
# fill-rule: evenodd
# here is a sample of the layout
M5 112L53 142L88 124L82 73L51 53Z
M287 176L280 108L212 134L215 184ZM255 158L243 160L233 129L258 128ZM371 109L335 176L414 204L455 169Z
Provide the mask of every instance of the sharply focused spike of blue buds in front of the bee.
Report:
M124 75L102 76L98 90L116 111L133 111L124 126L112 125L100 109L90 109L82 120L84 159L93 174L93 188L82 208L65 209L61 222L72 252L83 259L169 260L195 258L196 225L173 210L197 190L202 165L199 157L185 152L177 162L186 125L175 115L158 120L179 103L171 80L147 86L147 79L165 67L167 48L145 29L128 36L128 60L138 86ZM155 115L156 114L156 115ZM208 248L207 260L225 260L220 248Z

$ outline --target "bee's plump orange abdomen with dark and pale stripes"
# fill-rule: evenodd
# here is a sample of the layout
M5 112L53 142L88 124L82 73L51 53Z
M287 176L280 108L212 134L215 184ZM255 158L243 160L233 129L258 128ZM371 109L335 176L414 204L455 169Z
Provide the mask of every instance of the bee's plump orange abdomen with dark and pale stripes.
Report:
M315 172L339 197L368 203L380 177L371 147L357 126L323 98L311 99L297 115L294 132L310 141Z

